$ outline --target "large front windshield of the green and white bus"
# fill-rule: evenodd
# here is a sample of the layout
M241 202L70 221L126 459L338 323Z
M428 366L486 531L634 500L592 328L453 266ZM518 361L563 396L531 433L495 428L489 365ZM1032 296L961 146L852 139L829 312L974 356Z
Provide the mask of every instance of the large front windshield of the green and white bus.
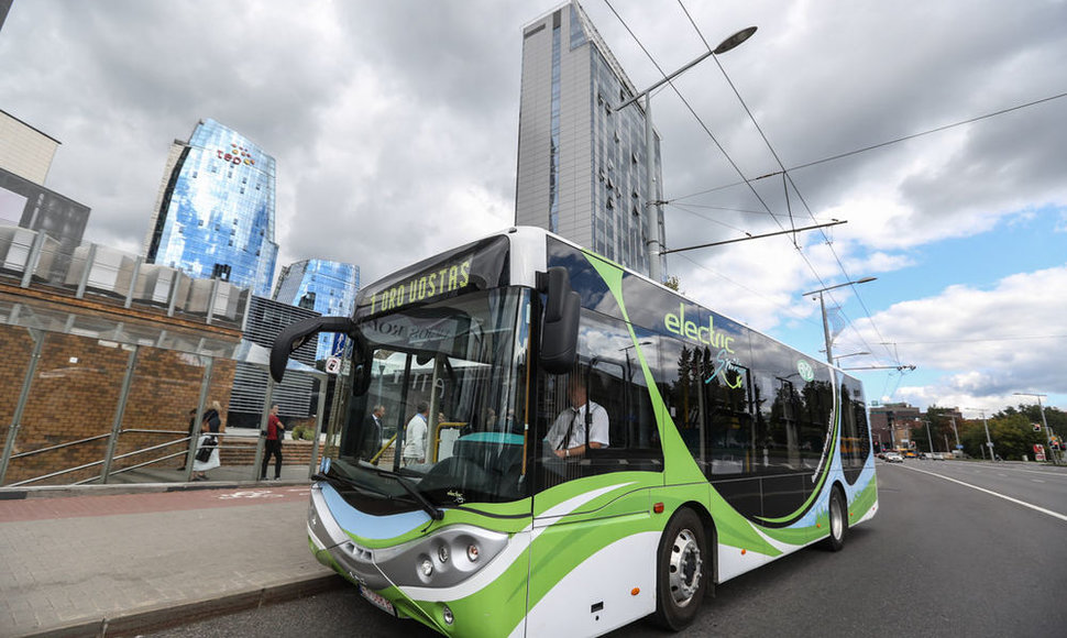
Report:
M359 323L371 378L328 472L342 496L400 510L526 495L529 304L527 288L493 288Z

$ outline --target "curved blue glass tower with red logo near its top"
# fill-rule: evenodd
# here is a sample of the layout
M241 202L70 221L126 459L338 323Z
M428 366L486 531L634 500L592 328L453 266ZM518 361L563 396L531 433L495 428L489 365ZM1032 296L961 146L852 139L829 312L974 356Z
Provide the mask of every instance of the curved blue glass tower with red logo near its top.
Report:
M144 241L148 263L271 294L274 157L237 131L201 120L175 140Z

